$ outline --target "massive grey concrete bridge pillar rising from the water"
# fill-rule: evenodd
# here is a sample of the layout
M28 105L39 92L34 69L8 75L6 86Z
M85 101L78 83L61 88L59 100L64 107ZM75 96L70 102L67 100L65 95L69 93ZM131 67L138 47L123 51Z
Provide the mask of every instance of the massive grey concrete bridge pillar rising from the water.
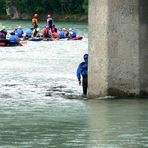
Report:
M148 0L89 0L88 97L148 94Z

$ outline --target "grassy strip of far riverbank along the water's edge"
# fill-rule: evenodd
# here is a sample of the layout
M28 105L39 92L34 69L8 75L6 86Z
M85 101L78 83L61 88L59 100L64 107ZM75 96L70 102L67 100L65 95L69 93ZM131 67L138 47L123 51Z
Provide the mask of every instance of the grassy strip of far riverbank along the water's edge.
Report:
M45 15L40 15L39 20L44 21L46 20ZM85 22L88 23L88 15L81 15L81 14L67 14L67 15L57 15L53 14L53 18L55 19L56 22ZM9 16L6 15L1 15L0 19L3 20L31 20L32 17L28 18L18 18L18 19L11 19Z

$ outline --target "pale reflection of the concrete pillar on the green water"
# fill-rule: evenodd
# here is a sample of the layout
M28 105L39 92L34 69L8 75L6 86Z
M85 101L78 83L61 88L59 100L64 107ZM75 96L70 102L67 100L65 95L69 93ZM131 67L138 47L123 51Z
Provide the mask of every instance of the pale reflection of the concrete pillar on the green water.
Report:
M144 99L90 101L92 147L147 147L147 105Z

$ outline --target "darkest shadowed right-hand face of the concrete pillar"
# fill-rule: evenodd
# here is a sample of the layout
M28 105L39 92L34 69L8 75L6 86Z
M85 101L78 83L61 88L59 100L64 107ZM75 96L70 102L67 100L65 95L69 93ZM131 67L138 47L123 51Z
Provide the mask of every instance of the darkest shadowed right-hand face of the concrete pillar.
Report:
M145 95L148 92L148 0L140 0L139 4L140 93Z

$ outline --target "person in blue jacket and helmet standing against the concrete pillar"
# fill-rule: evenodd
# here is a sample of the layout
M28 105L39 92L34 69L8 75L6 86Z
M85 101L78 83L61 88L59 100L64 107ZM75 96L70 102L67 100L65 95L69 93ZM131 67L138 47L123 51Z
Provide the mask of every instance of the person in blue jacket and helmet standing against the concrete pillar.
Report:
M83 56L84 61L79 64L77 68L77 79L79 85L81 85L81 76L82 76L82 88L83 88L83 95L87 95L87 87L88 87L88 54L84 54Z

